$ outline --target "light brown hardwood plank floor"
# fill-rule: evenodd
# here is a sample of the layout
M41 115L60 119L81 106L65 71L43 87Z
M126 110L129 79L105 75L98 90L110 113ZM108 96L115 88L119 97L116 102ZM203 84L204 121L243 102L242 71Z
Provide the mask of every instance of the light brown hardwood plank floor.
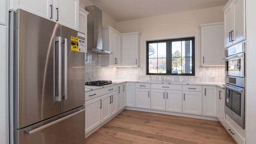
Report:
M236 144L217 121L124 110L86 144Z

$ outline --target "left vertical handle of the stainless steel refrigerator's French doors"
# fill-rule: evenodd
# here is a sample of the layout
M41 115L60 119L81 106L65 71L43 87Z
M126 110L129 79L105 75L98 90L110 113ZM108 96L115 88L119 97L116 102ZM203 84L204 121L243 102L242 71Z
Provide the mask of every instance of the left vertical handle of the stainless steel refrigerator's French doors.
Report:
M56 96L56 42L58 42L58 95ZM62 38L57 36L54 38L54 99L56 101L61 101L62 98Z

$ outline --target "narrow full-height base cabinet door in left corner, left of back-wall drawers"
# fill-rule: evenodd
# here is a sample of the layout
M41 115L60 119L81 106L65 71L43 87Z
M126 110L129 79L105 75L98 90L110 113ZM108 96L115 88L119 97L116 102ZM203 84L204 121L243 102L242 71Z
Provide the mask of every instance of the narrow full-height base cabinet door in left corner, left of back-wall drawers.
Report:
M134 83L126 83L126 106L135 107Z

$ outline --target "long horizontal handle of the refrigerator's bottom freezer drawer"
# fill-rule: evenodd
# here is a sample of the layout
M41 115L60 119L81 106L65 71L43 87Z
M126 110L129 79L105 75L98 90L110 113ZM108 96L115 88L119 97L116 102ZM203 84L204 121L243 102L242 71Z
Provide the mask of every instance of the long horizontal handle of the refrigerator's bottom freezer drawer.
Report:
M43 130L43 129L45 129L45 128L48 128L49 126L52 126L52 125L54 125L54 124L56 124L56 123L58 123L58 122L61 122L61 121L63 121L63 120L66 120L66 119L68 119L68 118L70 118L70 117L72 117L72 116L74 116L74 115L76 115L76 114L79 114L79 113L81 113L81 112L84 112L84 111L85 111L85 109L79 110L78 112L74 112L73 114L70 114L70 115L65 116L65 117L63 117L63 118L60 118L60 119L55 120L55 121L53 121L53 122L50 122L50 123L48 123L48 124L46 124L46 125L40 126L39 128L35 128L35 129L33 129L33 130L26 130L25 132L26 132L26 134L28 134L28 135L34 134L34 133L36 133L36 132L38 132L38 131L40 131L40 130Z

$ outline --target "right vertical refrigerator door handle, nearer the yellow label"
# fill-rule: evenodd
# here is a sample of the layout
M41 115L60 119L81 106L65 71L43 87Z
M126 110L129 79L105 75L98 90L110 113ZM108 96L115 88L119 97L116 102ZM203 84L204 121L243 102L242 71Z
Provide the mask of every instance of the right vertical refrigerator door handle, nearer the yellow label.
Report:
M64 43L64 100L68 99L68 39L62 38Z

